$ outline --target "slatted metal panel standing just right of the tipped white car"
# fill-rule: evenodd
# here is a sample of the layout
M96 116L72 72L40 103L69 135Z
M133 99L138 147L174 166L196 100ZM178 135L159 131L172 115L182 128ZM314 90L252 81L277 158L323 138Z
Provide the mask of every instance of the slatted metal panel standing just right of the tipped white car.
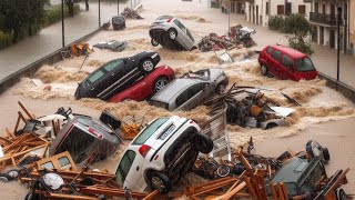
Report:
M213 140L214 148L209 154L212 158L227 157L227 160L232 160L231 146L229 140L229 133L226 131L226 103L214 104L210 108L210 114L212 116L207 122L202 127L201 133L207 134Z

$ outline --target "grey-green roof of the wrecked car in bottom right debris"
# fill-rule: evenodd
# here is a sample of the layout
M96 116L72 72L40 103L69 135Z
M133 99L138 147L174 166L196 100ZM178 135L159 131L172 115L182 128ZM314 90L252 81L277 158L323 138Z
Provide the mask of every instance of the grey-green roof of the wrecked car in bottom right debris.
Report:
M312 160L294 157L277 171L272 182L297 183L310 166L313 166Z

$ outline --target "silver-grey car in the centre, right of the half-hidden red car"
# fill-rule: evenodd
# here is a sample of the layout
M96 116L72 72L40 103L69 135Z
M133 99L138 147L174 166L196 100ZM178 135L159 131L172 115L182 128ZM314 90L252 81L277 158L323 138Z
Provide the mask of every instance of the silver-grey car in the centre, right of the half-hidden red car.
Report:
M156 92L150 102L170 111L190 110L206 98L222 93L227 84L229 79L220 69L189 72Z

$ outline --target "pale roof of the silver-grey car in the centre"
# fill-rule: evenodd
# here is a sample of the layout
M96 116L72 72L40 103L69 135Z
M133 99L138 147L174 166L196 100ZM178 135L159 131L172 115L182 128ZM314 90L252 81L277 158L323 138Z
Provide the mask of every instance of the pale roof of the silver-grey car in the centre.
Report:
M197 82L205 82L205 81L201 79L191 79L191 78L175 79L171 83L165 86L162 90L156 92L151 98L151 100L160 101L160 102L170 102L178 93L180 93L180 91Z

